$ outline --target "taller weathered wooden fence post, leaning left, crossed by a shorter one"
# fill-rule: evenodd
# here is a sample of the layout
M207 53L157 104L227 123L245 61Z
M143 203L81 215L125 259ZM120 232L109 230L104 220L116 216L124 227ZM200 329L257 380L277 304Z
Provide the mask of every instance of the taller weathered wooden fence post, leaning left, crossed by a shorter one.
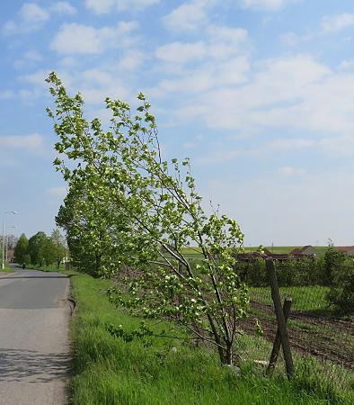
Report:
M291 356L290 345L288 341L288 331L287 324L284 317L283 310L281 308L279 285L277 280L277 275L275 273L273 259L268 257L266 259L266 266L268 270L268 275L270 277L270 289L271 289L271 298L274 302L274 310L277 316L279 335L281 340L281 346L283 347L283 355L285 360L285 365L287 367L288 379L294 374L294 364L293 357Z

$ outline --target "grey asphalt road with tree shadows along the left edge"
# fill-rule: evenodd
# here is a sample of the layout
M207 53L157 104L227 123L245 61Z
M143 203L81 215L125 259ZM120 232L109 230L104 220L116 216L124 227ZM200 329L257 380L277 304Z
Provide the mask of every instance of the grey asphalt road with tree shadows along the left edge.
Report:
M58 273L0 273L1 405L66 403L68 288Z

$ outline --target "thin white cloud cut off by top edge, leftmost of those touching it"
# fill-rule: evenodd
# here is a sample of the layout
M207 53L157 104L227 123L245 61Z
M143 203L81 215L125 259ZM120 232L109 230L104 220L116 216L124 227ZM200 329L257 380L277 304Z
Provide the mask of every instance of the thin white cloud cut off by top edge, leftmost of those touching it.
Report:
M144 10L159 2L160 0L86 0L85 5L95 14L107 14L114 10Z

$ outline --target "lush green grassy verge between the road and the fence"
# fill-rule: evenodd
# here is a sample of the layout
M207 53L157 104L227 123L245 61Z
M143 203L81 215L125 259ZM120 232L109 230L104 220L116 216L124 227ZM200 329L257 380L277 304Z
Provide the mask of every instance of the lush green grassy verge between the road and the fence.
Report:
M117 311L104 294L108 281L71 273L77 311L73 404L332 404L350 403L314 366L299 364L291 383L245 363L235 375L206 349L155 338L148 344L113 338L106 324L136 329L140 320ZM159 331L170 325L151 326Z

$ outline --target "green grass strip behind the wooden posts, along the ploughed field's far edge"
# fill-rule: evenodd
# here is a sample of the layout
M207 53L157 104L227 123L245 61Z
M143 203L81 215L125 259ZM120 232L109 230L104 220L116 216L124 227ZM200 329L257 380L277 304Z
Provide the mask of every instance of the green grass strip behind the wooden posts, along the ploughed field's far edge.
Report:
M306 287L280 287L281 297L291 297L292 310L297 311L328 311L326 293L328 287L311 285ZM253 301L272 304L269 287L251 287L250 296Z

